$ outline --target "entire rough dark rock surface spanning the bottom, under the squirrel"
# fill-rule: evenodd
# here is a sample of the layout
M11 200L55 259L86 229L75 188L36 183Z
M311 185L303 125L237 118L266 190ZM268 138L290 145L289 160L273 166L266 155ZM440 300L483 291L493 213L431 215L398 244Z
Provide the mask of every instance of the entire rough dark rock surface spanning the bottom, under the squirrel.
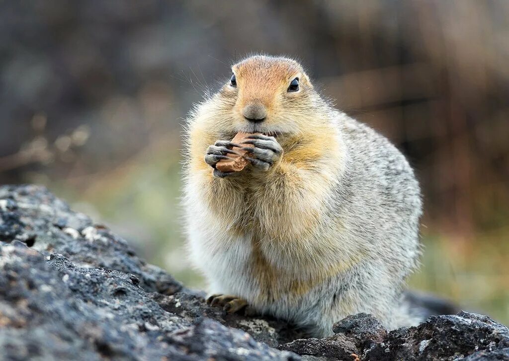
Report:
M366 314L304 339L227 315L37 186L0 187L0 359L509 360L509 330L466 312L388 332Z

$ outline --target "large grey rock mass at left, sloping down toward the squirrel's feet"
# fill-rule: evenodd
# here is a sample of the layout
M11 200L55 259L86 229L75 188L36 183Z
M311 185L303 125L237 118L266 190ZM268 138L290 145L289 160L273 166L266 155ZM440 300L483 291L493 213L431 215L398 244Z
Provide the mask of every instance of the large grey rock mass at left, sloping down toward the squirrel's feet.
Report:
M212 319L164 310L158 297L182 286L44 188L0 187L0 200L7 197L16 207L0 209L7 231L0 234L0 359L299 359ZM64 228L55 225L62 218ZM37 237L32 248L26 234ZM259 334L275 334L265 324Z

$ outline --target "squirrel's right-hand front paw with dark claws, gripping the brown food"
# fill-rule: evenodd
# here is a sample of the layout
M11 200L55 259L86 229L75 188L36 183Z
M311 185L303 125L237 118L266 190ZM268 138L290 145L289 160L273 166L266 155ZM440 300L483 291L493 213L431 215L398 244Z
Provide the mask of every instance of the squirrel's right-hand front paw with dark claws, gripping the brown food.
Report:
M243 147L249 156L245 158L252 164L253 168L267 171L276 164L283 154L283 148L276 138L268 135L248 135L241 144L252 144L252 147Z

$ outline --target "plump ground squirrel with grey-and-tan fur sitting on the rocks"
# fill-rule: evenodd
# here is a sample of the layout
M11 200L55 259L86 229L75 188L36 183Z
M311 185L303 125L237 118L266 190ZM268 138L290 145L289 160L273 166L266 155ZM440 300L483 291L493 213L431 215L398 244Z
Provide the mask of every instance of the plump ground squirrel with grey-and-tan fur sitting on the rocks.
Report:
M389 329L420 321L402 297L421 216L405 157L334 109L296 61L259 55L232 70L186 126L186 231L209 302L316 337L359 312ZM239 131L262 135L233 144ZM245 144L244 170L215 168Z

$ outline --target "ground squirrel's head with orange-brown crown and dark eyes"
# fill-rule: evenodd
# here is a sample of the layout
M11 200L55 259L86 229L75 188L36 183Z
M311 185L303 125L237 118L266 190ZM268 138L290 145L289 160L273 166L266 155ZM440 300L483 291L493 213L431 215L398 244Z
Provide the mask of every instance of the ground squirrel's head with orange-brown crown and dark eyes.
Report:
M312 127L321 102L302 66L285 57L251 56L232 67L220 91L235 131L295 134Z

